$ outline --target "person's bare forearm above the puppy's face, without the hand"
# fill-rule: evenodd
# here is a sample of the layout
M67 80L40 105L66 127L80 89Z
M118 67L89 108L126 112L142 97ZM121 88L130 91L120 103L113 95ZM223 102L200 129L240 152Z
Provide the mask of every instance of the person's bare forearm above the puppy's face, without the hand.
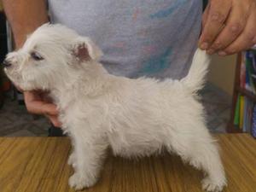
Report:
M3 0L5 14L20 48L26 36L48 21L45 0Z

